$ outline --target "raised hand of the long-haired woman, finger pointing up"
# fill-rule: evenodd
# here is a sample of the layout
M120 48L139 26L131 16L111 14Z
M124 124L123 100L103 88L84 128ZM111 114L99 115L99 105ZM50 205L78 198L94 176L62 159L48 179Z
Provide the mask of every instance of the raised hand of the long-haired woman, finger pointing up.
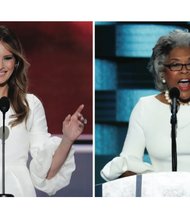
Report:
M87 120L82 115L84 105L80 105L73 115L68 115L63 121L63 138L73 143L83 132Z

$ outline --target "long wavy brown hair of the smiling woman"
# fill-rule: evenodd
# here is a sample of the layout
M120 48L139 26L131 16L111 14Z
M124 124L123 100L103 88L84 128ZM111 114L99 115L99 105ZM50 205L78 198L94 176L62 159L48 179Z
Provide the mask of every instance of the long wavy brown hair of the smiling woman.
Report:
M11 116L13 120L10 122L10 125L13 127L27 120L29 114L29 105L26 99L28 90L27 70L29 63L24 57L19 39L5 26L0 26L0 41L15 57L15 69L7 82L8 98L15 112Z

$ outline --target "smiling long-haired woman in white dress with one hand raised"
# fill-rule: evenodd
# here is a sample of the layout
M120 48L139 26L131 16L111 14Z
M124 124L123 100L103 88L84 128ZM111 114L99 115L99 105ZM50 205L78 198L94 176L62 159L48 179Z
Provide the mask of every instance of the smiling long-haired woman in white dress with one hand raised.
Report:
M62 138L51 137L42 103L27 93L27 68L18 38L7 27L0 26L0 98L5 96L10 101L5 122L5 193L36 196L37 188L53 195L69 184L75 170L72 144L87 122L82 115L84 105L65 118ZM2 133L2 120L0 126ZM29 153L32 159L28 168Z

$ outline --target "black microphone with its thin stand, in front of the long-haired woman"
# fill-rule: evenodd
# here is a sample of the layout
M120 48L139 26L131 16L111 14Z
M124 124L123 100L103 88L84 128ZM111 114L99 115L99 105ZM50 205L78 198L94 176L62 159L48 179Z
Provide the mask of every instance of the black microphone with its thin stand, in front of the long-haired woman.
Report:
M0 99L0 111L3 113L3 132L2 132L2 194L0 197L14 197L12 194L5 193L5 113L10 108L9 99L3 96Z

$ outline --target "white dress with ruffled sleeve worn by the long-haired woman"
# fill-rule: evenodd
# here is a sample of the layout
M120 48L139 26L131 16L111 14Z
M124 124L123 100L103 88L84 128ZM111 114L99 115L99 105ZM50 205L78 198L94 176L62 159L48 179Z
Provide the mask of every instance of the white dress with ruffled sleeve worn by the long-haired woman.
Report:
M10 108L6 113L6 126L9 134L5 141L5 192L14 196L36 196L35 189L53 195L59 189L67 186L72 172L75 170L74 150L71 148L67 159L59 172L50 180L46 179L52 157L61 141L52 137L47 131L44 108L40 100L32 95L27 95L30 114L27 121L11 128L8 124L13 114ZM2 119L0 119L2 126ZM1 147L0 147L1 148ZM32 160L27 168L28 153ZM0 151L0 187L2 153ZM0 191L1 191L0 188Z

